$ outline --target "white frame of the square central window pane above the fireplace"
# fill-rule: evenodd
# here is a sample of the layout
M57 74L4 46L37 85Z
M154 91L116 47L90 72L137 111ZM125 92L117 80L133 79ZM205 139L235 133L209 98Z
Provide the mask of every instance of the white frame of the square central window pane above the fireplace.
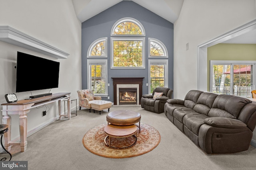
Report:
M110 46L111 46L111 57L110 57L110 68L111 69L145 69L145 37L111 37L110 38ZM114 66L114 41L142 41L142 66L140 67L121 67L121 66Z

